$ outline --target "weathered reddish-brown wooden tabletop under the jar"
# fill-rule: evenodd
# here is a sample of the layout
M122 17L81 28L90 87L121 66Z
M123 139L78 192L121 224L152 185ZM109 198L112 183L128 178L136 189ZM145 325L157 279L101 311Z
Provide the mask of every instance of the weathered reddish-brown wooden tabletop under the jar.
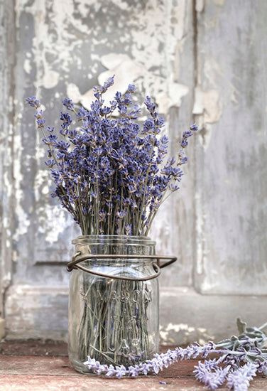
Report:
M0 354L0 391L205 390L192 373L198 360L175 363L158 375L119 380L77 373L66 356L65 344L5 342L0 343ZM256 377L250 390L267 391L267 379Z

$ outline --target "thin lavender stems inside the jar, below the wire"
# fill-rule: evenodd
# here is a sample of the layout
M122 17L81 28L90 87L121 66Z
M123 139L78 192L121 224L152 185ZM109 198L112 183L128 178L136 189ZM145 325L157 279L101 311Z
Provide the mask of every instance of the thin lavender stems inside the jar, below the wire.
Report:
M134 291L143 292L146 283L94 278L84 289L80 360L89 355L102 363L129 365L138 355L149 358L147 305L141 297L131 301Z

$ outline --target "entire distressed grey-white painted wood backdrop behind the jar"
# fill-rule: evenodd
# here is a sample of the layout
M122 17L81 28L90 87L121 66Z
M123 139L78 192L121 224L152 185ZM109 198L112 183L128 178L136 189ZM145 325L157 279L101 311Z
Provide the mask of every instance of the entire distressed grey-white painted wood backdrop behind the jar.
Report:
M178 262L160 277L165 343L223 338L266 321L265 0L0 1L0 314L7 338L64 339L64 264L79 234L50 199L42 136L25 98L58 124L64 97L88 107L116 74L151 95L171 153L195 121L180 193L151 232Z

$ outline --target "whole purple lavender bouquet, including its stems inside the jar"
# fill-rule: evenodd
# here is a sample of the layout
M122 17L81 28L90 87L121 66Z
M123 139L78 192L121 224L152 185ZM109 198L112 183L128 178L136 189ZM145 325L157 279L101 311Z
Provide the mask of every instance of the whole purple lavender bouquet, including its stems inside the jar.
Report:
M145 100L149 117L141 124L141 108L133 104L134 85L129 85L124 94L116 92L114 100L105 105L103 95L113 84L114 76L103 86L94 87L96 100L90 109L76 108L72 100L63 100L66 110L60 112L59 134L54 127L45 129L36 97L27 102L36 109L36 122L48 147L45 164L55 183L52 197L59 198L71 213L82 235L147 237L160 205L178 191L180 166L187 162L183 150L197 127L192 124L182 134L177 159L168 157L164 120L151 97ZM80 122L80 129L72 122L71 113ZM97 277L90 281L87 284L84 279L80 292L84 309L78 326L79 359L85 361L90 355L102 363L126 365L129 360L149 358L148 305L132 308L130 301L119 301L115 308L110 305L114 291L117 297L125 297L125 292L131 296L134 291L148 291L148 284ZM125 318L131 318L131 330L121 327ZM133 339L141 341L138 349L131 346ZM112 351L109 340L113 341ZM128 341L127 355L119 352L121 340Z

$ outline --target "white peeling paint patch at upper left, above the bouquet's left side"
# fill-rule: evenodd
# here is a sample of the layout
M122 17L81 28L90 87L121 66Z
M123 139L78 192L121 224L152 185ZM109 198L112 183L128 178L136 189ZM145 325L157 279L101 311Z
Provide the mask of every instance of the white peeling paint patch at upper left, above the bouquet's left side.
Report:
M80 6L85 7L85 1L81 1ZM48 25L46 16L48 10L50 12L50 23ZM72 53L80 41L77 41L74 31L80 31L83 34L89 34L90 30L82 21L77 23L74 18L74 3L72 0L57 0L53 1L33 1L29 5L28 0L16 1L16 26L19 28L20 16L22 12L26 12L33 16L35 36L33 38L32 53L33 60L36 63L36 95L40 97L39 89L41 86L45 88L54 88L58 85L60 75L54 67L54 62L50 61L51 55L56 58L56 62L60 63L62 72L68 72L69 65L72 63ZM49 26L55 30L55 34L50 33ZM75 27L75 29L70 28ZM30 55L27 53L27 58ZM24 69L26 73L30 70L30 64L25 63ZM78 67L79 68L79 63Z

